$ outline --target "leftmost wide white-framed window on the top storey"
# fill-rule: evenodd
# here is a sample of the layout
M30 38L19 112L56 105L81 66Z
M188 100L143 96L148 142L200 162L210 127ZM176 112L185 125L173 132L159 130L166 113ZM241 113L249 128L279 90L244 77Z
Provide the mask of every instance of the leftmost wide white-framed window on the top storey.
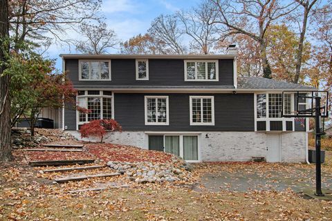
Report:
M111 80L110 60L80 60L80 81Z

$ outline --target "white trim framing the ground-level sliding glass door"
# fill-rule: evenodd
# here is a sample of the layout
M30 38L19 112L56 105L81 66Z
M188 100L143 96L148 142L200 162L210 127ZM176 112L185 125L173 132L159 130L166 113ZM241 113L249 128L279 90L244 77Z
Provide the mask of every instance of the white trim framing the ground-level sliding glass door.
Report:
M202 137L203 137L203 132L182 132L182 133L178 133L178 132L172 132L172 131L158 131L158 132L154 132L154 131L147 131L145 132L145 149L149 149L149 135L163 135L164 137L164 146L165 146L165 136L179 136L179 142L180 142L180 157L183 158L183 136L197 136L197 142L198 142L198 160L185 160L186 162L189 163L197 163L197 162L201 162L201 142L202 142ZM165 148L164 148L164 152L165 152Z

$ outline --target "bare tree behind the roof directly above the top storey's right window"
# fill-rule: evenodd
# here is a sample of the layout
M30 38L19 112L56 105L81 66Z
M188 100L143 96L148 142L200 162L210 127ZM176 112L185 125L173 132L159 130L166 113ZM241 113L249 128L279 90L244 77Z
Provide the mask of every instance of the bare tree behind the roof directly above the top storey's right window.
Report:
M183 32L192 38L190 48L199 50L205 55L209 54L214 43L218 41L216 24L214 23L216 12L212 5L203 2L193 8L192 12L178 12L178 17L183 23Z

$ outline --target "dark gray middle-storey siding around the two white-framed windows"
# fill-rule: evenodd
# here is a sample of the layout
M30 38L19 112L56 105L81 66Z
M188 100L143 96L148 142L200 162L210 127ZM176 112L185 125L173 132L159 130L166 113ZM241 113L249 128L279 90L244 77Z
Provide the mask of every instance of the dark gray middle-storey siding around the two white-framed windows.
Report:
M169 125L145 126L145 95L116 93L115 119L124 131L254 131L253 94L213 94L215 126L190 126L190 95L169 96ZM207 94L204 94L207 95Z

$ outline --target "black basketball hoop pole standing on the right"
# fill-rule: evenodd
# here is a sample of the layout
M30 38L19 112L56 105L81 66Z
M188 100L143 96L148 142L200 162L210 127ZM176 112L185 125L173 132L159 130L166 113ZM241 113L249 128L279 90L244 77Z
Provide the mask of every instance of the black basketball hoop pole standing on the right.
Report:
M322 169L321 169L321 159L320 159L320 122L321 113L320 113L320 97L315 97L315 149L316 149L316 192L315 195L323 196L322 193Z

